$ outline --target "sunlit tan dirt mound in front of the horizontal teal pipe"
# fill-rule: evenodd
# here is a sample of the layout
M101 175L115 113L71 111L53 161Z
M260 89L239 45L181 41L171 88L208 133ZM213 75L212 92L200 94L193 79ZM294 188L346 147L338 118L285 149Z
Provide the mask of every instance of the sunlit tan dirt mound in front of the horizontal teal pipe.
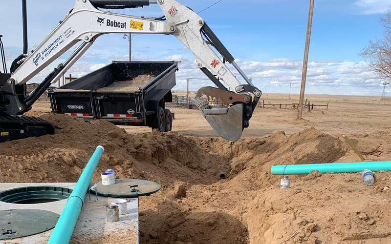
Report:
M378 243L391 234L390 195L379 190L390 183L390 174L376 175L384 180L374 187L365 187L356 173L304 177L287 190L260 190L246 215L250 243L283 243L291 236L286 243Z

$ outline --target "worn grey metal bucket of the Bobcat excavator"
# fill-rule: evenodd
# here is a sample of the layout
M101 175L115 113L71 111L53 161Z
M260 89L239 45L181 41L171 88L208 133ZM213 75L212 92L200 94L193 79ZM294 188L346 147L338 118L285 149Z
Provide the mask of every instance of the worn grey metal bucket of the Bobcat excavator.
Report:
M192 99L202 116L217 134L228 141L237 141L242 134L243 105L211 106L200 99Z

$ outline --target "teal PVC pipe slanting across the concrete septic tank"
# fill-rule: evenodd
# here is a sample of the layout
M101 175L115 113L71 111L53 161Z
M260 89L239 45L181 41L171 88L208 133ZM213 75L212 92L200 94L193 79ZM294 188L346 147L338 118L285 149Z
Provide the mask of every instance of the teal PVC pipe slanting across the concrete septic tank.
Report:
M56 227L54 227L53 233L47 242L48 244L69 243L73 229L76 225L76 221L79 217L84 198L86 197L88 185L91 182L96 165L98 164L104 151L105 149L103 146L96 147L94 154L92 154L86 167L80 175L75 188L70 194L68 202L65 204L60 219L58 220Z

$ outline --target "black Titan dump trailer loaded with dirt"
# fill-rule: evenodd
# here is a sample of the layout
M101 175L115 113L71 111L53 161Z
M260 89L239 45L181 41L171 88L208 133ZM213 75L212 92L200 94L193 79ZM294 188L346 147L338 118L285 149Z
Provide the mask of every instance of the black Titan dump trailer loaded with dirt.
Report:
M120 62L50 90L52 113L171 131L177 62Z

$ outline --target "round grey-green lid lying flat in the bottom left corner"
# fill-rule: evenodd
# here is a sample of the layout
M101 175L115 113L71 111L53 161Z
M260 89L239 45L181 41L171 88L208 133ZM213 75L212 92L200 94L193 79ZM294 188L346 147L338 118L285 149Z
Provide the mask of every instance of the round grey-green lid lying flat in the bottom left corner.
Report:
M41 209L0 210L0 240L39 234L54 228L60 215Z

